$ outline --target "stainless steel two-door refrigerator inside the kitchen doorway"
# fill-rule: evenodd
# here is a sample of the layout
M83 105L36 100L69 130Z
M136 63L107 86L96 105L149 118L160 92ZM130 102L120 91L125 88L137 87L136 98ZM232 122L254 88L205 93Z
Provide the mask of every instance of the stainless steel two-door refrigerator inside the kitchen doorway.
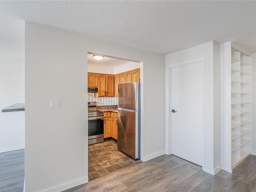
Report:
M117 147L140 159L140 83L118 84Z

